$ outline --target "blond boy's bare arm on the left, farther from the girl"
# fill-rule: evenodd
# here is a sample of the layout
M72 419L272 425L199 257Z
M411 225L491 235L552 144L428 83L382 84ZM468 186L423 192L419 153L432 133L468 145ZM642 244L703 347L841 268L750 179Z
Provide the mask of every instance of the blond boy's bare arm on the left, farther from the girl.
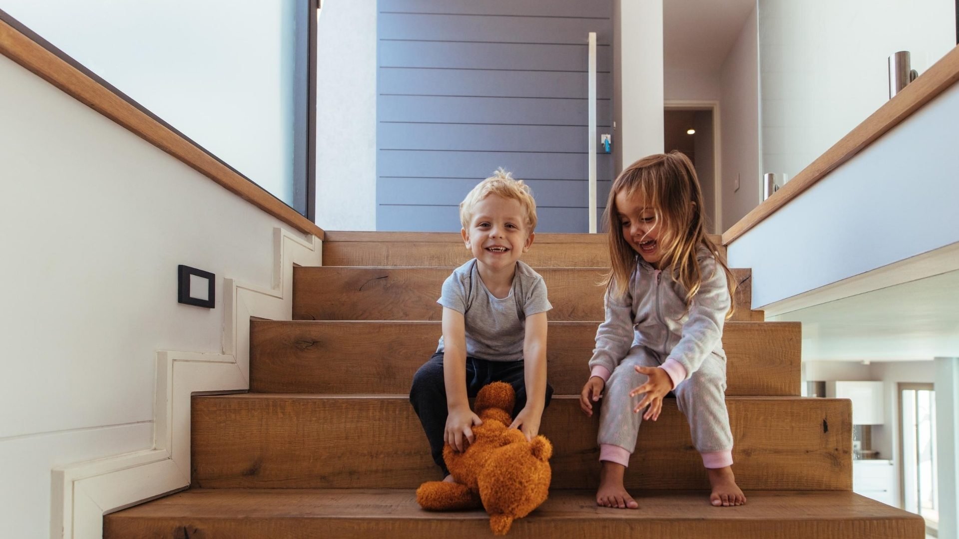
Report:
M463 315L443 308L443 384L446 386L446 430L443 439L456 451L464 451L473 443L473 429L481 425L479 416L470 410L466 395L466 324Z

